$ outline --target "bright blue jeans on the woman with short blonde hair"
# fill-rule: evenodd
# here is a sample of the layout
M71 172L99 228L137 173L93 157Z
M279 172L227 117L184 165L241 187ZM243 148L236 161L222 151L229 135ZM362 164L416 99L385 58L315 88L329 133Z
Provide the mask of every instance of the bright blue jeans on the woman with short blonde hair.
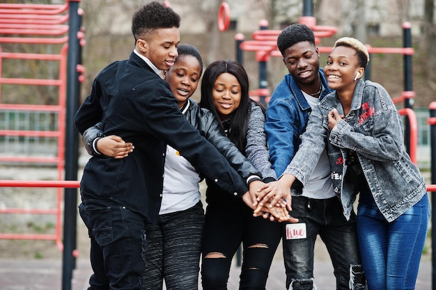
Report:
M391 223L384 219L370 192L360 193L357 236L368 290L414 289L426 241L427 195Z

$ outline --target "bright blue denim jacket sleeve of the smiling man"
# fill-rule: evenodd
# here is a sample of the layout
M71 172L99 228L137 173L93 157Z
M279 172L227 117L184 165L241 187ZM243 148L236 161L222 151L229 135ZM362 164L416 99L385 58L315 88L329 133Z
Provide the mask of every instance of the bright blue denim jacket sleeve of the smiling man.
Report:
M270 162L277 177L283 174L295 154L295 108L284 99L272 99L267 106L265 131L270 148Z

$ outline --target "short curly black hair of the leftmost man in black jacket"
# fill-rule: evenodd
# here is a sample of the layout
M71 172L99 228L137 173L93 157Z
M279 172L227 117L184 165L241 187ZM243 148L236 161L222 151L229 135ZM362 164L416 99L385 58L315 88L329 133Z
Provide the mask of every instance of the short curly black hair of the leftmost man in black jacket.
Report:
M143 6L132 17L132 33L135 42L156 29L179 28L179 26L180 15L172 8L156 1Z

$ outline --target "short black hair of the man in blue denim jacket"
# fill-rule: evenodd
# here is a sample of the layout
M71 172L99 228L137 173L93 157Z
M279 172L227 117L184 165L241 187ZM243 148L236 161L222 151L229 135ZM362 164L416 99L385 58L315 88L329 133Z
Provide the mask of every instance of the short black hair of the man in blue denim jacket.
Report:
M283 29L277 38L277 47L284 56L285 50L292 47L298 42L308 41L315 45L315 35L312 29L304 24L290 24L290 26Z

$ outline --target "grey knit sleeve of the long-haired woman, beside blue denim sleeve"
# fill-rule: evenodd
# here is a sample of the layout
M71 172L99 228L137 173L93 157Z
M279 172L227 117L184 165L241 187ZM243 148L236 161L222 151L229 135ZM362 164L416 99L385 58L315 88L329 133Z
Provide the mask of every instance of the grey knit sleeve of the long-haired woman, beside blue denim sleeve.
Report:
M270 163L270 151L267 147L267 135L265 133L265 114L260 106L251 106L250 120L247 129L247 146L245 154L253 163L263 179L277 179L276 172Z

